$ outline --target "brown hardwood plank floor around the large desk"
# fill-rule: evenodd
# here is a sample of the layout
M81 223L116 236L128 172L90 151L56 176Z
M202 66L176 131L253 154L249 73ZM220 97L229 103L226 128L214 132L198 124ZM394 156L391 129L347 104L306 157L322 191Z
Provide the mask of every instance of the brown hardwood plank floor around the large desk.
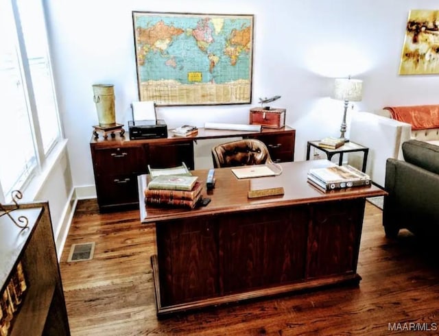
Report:
M154 226L142 226L139 211L101 215L95 200L81 201L60 263L71 334L439 335L438 250L407 231L386 239L381 214L366 202L358 287L158 320L150 264ZM93 241L91 261L67 262L73 243Z

